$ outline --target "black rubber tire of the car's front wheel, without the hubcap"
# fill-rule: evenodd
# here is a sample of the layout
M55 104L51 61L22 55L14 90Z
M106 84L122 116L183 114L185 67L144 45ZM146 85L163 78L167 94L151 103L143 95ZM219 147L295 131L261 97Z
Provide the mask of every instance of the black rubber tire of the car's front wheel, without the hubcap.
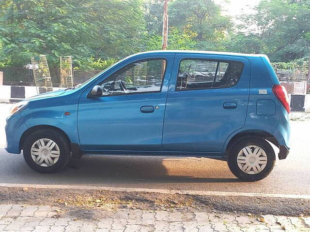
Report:
M51 166L38 165L31 157L31 146L39 139L47 138L53 140L59 147L59 159ZM70 145L66 137L52 129L43 129L33 132L26 139L23 146L23 154L26 163L38 173L56 173L66 166L70 160Z

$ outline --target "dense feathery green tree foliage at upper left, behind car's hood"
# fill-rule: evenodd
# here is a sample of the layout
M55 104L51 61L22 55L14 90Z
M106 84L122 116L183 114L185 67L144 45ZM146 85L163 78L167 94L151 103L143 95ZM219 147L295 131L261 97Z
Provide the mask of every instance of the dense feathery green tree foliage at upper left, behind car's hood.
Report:
M51 66L71 55L121 58L140 50L141 0L2 0L0 60L24 65L45 54Z

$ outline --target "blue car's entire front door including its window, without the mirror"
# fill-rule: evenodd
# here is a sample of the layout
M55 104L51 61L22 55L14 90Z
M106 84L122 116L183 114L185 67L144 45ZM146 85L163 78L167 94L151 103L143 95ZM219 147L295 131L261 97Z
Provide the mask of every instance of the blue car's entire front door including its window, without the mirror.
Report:
M161 150L173 55L133 60L96 83L102 97L81 94L78 135L83 150ZM165 72L166 70L166 72Z

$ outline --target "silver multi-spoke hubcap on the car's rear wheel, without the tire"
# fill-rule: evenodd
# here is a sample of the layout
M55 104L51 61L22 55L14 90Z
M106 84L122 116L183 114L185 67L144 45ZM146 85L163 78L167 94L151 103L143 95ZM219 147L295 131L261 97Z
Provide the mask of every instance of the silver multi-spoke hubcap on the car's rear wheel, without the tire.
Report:
M267 155L263 148L248 145L242 148L237 156L237 164L240 170L246 174L258 174L267 164Z

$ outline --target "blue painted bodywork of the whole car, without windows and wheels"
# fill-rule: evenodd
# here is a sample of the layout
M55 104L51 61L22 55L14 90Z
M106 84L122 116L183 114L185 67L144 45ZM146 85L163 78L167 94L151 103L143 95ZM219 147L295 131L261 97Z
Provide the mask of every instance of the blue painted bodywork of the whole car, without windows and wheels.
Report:
M88 97L92 88L112 73L147 58L167 61L159 92ZM184 58L233 60L244 66L240 80L233 87L176 91L178 67ZM275 84L279 80L263 55L199 51L140 53L117 62L76 89L27 99L29 103L24 109L7 118L6 150L20 153L23 134L40 126L63 131L71 143L93 154L225 160L226 147L234 136L257 131L274 136L278 145L289 148L289 116L272 92ZM156 109L143 114L141 107Z

